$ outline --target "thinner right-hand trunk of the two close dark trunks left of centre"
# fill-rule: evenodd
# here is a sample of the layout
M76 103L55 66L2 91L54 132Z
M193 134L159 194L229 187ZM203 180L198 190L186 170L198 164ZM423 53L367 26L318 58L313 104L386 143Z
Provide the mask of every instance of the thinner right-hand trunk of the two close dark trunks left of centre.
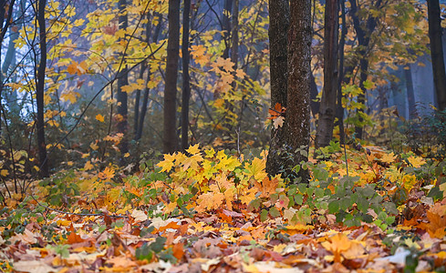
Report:
M191 85L189 84L189 22L191 0L184 0L182 11L182 149L189 147L189 100Z

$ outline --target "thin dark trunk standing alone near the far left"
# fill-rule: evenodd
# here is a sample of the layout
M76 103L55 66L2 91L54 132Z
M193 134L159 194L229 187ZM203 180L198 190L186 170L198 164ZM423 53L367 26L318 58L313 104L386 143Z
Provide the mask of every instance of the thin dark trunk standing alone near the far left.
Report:
M40 162L40 177L48 177L47 145L45 144L45 70L47 69L47 27L45 25L46 0L39 0L37 7L37 22L39 29L40 61L36 77L36 104L37 104L37 147Z

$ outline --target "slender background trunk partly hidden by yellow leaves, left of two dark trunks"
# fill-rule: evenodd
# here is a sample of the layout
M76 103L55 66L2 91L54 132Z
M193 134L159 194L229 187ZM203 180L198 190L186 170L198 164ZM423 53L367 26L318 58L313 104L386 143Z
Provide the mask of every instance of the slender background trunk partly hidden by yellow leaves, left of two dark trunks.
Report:
M127 0L119 0L119 29L126 30L129 23L127 19L126 6ZM126 57L126 53L123 53L122 58ZM119 143L119 151L122 155L129 151L129 139L127 136L129 131L129 121L128 121L128 96L127 92L122 91L123 86L129 85L128 71L126 60L122 64L122 68L119 72L118 78L118 90L117 90L117 100L118 100L118 115L119 121L117 125L118 133L123 134L123 138ZM125 164L125 157L120 157L119 164Z

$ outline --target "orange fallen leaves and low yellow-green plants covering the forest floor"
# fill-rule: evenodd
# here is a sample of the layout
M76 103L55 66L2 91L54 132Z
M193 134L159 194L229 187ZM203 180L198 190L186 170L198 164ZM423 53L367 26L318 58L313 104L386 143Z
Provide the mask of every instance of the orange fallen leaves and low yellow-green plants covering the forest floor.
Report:
M133 174L60 172L5 200L1 269L444 272L446 162L337 150L300 166L308 185L267 177L264 153L198 146Z

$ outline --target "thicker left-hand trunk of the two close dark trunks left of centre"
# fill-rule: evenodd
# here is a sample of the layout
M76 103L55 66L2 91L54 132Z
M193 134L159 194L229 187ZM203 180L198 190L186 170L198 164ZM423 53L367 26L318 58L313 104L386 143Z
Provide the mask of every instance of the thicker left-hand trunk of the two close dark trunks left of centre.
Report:
M177 150L177 78L180 47L180 0L169 1L169 38L167 41L166 84L164 89L164 153Z

